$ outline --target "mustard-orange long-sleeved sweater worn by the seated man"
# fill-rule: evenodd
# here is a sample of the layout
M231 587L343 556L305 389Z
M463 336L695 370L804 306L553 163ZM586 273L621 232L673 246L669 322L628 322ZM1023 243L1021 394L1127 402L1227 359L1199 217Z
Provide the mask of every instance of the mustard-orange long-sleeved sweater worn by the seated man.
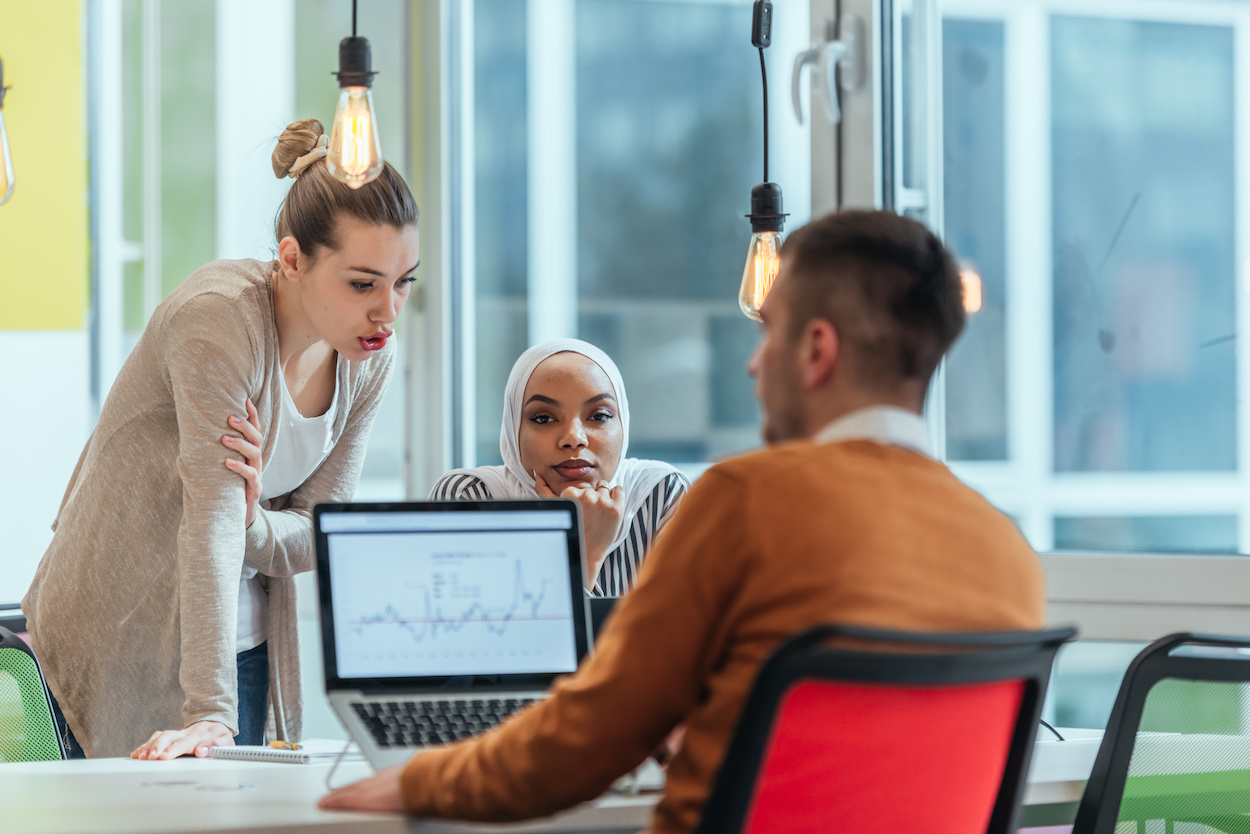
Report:
M716 465L686 495L600 636L552 696L404 769L421 816L515 820L602 794L686 724L651 830L699 821L756 671L820 623L1034 629L1036 555L940 463L866 440Z

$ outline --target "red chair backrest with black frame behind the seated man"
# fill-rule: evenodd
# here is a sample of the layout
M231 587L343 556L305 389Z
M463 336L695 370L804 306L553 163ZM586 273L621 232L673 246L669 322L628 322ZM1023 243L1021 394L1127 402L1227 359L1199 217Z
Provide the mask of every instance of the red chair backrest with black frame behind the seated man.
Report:
M756 678L700 833L1015 830L1050 668L1074 634L791 638Z

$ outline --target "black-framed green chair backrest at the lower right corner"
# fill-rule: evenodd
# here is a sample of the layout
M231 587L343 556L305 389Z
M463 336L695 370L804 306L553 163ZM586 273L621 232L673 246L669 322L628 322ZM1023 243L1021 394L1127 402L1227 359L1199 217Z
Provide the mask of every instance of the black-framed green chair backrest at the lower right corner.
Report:
M1170 634L1129 664L1074 834L1250 830L1250 638ZM1176 823L1186 825L1176 826Z

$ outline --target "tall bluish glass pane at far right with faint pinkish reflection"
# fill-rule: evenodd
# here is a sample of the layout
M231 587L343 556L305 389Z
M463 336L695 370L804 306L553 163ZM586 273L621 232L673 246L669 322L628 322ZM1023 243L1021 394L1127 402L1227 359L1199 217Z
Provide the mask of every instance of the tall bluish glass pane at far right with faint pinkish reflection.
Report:
M1051 19L1058 471L1236 465L1232 44Z

